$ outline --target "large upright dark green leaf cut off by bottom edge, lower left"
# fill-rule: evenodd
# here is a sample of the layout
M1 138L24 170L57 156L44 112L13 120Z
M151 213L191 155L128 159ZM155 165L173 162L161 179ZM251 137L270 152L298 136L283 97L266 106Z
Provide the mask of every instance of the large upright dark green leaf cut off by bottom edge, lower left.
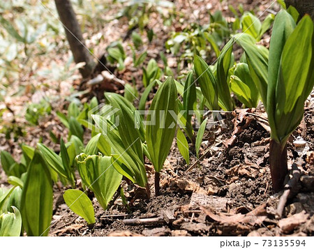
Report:
M22 222L28 236L47 236L52 220L52 179L45 160L35 151L22 192Z

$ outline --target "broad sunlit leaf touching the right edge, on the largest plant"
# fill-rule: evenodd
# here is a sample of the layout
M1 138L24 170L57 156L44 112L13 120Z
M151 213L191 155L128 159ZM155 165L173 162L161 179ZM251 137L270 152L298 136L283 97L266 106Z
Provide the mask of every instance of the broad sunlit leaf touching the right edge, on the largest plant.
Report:
M304 101L313 89L313 50L313 21L305 16L287 38L281 55L275 114L280 141L285 141L299 125L304 112Z

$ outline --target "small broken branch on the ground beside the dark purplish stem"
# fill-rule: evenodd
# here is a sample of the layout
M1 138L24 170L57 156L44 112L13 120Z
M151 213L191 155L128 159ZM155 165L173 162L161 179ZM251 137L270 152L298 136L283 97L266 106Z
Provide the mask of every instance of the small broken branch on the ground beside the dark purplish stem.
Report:
M298 168L297 163L292 164L292 178L285 185L283 195L281 195L281 199L279 199L278 207L277 207L277 215L278 218L283 216L283 209L285 209L285 204L287 200L295 194L292 190L297 186L301 176L301 170Z

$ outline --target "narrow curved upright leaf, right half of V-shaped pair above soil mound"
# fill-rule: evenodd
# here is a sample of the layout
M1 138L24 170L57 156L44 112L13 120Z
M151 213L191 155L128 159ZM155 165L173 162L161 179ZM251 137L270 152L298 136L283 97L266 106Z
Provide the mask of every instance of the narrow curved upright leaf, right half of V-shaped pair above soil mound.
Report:
M230 96L229 86L227 83L228 71L231 64L232 48L234 39L227 42L217 61L217 89L219 104L225 111L232 111L233 104Z

